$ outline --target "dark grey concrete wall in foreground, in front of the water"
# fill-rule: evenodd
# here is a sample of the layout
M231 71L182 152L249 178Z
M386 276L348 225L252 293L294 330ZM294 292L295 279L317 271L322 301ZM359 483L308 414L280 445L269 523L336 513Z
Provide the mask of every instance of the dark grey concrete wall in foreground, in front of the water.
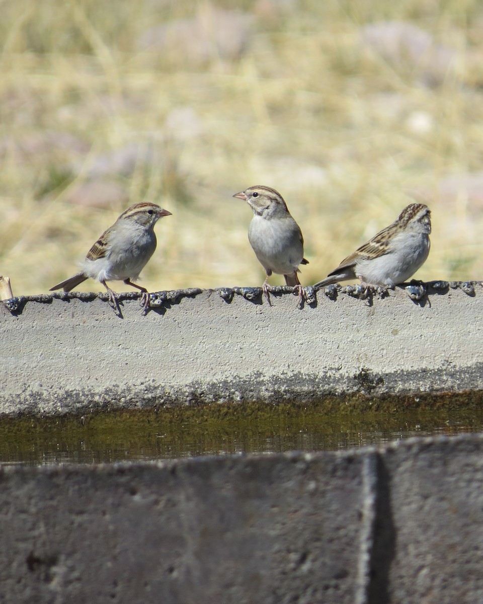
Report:
M483 601L482 435L0 481L0 602Z

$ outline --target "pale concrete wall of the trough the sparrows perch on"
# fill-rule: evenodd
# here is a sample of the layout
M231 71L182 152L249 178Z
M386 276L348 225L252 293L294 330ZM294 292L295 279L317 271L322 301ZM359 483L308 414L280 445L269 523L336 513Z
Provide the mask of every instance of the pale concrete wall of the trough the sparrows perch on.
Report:
M260 288L159 292L146 316L126 295L122 318L106 295L0 304L0 413L483 390L480 283L415 301L330 291L302 310L288 292L261 303Z

